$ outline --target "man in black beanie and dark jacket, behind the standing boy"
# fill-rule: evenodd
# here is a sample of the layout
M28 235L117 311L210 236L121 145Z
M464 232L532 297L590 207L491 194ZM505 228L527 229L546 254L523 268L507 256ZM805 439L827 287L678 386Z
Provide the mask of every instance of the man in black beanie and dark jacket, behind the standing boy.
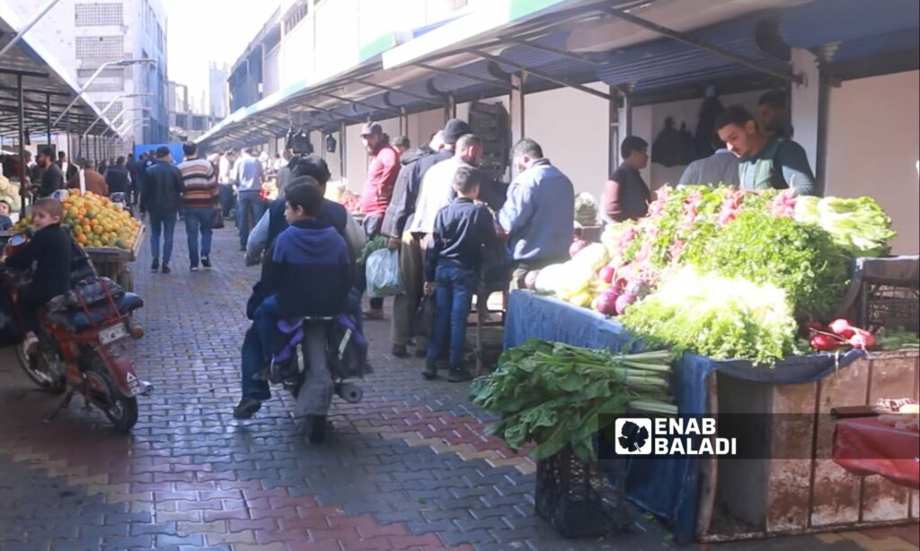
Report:
M457 118L451 119L443 130L431 137L428 144L430 151L422 149L408 152L400 159L403 166L399 170L393 189L393 199L386 208L381 229L381 233L389 238L389 249L399 251L399 272L405 291L393 300L393 319L390 320L392 354L397 357L408 356L406 345L412 336L412 316L419 307L421 287L424 284L421 241L406 231L415 215L421 181L428 169L454 156L456 141L469 132L470 128L466 122ZM417 337L416 357L426 357L427 351L428 342L424 337Z

